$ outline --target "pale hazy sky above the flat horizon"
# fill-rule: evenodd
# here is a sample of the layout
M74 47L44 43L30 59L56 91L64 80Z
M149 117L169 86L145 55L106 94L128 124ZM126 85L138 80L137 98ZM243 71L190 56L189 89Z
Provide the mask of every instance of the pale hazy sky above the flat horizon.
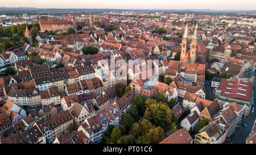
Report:
M1 0L1 7L256 10L255 0Z

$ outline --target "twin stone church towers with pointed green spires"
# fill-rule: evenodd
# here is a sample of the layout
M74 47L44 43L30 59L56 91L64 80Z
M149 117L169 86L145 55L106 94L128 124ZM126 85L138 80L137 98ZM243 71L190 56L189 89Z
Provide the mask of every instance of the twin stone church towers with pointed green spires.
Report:
M196 29L195 29L194 35L192 37L192 42L191 42L191 48L188 50L188 23L187 23L185 32L183 35L183 39L182 39L180 62L196 63L196 59L197 59L197 28L198 28L198 25L196 23Z

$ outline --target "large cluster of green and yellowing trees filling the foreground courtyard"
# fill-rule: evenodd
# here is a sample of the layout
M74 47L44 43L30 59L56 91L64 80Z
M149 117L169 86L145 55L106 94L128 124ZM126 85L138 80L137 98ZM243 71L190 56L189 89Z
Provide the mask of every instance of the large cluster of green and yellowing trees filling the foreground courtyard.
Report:
M118 89L124 88L119 84ZM175 104L175 99L167 102L163 93L156 93L155 99L137 95L133 106L126 114L123 114L119 127L109 125L101 143L159 143L163 140L164 131L175 132L179 129L177 126L179 120L171 112Z

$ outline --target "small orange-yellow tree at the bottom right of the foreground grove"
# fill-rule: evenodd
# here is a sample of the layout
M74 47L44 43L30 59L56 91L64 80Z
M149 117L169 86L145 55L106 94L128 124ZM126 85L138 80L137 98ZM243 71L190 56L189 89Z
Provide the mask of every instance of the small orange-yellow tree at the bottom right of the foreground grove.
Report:
M146 133L144 137L144 141L146 144L159 143L164 137L164 130L161 127L150 129L150 131Z

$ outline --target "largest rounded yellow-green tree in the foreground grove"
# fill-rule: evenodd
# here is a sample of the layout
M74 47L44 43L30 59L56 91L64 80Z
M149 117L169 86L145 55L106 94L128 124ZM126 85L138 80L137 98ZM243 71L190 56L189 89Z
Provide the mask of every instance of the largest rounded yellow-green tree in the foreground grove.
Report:
M166 103L152 103L146 108L144 118L166 130L172 123L172 112Z

